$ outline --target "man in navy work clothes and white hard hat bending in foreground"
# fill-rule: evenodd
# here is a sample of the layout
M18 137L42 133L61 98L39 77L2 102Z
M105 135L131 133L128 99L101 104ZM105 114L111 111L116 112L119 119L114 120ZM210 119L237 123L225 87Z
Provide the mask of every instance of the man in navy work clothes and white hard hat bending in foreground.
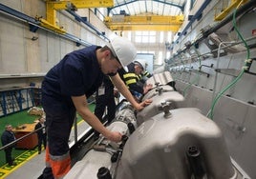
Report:
M109 75L114 86L141 110L152 100L138 103L117 74L136 57L135 46L126 38L116 37L104 47L90 46L68 53L44 77L42 105L46 113L47 148L46 168L39 178L63 178L71 169L69 136L75 111L105 138L120 142L122 134L106 129L89 109L87 98L100 87L104 75Z

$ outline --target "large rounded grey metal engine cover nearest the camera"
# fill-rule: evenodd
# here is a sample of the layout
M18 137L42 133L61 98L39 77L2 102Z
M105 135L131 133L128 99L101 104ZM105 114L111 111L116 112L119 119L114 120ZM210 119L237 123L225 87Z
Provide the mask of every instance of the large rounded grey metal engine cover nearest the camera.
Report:
M236 178L221 130L198 109L161 112L128 139L118 179Z

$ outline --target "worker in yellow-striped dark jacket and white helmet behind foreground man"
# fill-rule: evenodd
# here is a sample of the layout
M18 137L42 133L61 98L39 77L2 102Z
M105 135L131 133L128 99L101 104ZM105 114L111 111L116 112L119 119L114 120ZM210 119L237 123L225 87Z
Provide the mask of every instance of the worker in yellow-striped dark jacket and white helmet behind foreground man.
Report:
M118 70L121 79L138 102L141 96L153 87L152 84L144 85L145 82L141 83L140 81L141 74L146 70L146 66L145 60L136 59L127 66L126 70L125 68Z

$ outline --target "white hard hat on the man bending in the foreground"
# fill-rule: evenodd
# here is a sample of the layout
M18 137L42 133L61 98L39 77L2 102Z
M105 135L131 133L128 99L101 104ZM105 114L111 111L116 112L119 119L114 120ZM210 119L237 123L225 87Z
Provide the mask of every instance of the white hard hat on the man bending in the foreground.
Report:
M135 46L127 38L116 37L111 40L108 46L115 56L117 56L123 68L134 61L137 50Z

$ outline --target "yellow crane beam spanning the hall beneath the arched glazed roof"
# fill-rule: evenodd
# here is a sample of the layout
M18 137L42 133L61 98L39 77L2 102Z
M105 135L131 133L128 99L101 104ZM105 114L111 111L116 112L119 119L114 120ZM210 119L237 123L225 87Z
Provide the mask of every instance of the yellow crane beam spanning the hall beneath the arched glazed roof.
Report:
M114 15L105 17L104 22L110 30L170 30L177 32L184 21L183 15Z

